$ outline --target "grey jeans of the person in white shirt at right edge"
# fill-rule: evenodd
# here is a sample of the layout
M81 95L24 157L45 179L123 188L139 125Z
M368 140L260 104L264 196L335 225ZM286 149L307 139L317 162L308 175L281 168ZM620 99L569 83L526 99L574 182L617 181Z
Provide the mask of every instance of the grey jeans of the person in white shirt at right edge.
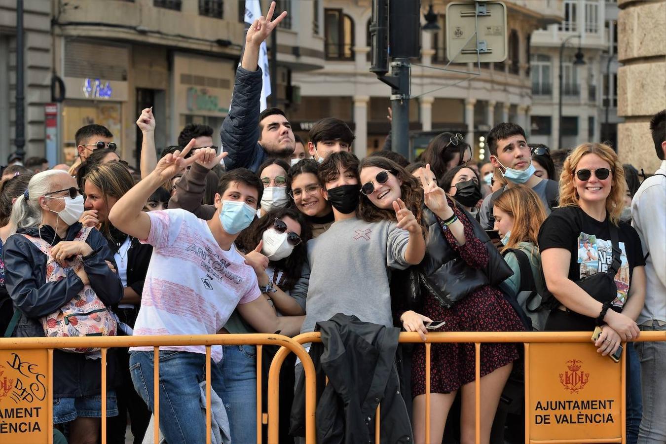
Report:
M666 330L656 321L652 326L640 326L641 331ZM639 444L666 443L666 341L636 344L641 361L643 419L638 435Z

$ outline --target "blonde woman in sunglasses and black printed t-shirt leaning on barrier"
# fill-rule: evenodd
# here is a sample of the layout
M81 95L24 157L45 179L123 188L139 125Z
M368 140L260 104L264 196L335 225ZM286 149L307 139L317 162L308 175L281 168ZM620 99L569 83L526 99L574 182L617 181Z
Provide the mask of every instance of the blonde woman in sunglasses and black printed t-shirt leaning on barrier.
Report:
M602 355L615 353L622 341L639 335L635 320L645 302L641 240L631 225L620 220L626 192L623 166L613 149L600 143L582 144L564 162L560 208L553 210L539 231L543 276L554 296L545 330L592 332L601 326L595 346ZM614 254L615 236L619 252ZM621 262L617 264L613 256ZM577 285L582 278L609 270L611 274L617 270L615 288L586 291ZM632 371L635 353L629 351L628 356L627 433L637 436L640 376Z

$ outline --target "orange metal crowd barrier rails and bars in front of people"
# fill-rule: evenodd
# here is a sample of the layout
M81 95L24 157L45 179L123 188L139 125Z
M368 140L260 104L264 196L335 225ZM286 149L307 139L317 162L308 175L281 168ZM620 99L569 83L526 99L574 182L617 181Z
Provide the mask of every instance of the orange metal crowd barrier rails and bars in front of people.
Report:
M426 421L425 437L426 442L431 442L430 436L430 349L432 343L474 343L476 347L476 442L480 442L480 374L481 374L481 344L482 343L523 343L525 349L525 409L529 403L529 345L532 343L589 343L591 333L587 332L447 332L447 333L428 333L425 341L426 347ZM155 443L158 443L159 437L159 347L168 345L205 345L206 346L206 444L210 444L210 347L212 345L256 345L256 397L257 397L257 439L258 443L262 441L262 425L268 424L268 443L278 442L278 417L280 414L278 407L278 396L280 391L280 367L288 353L295 353L303 364L303 370L306 378L306 439L308 444L316 443L315 430L315 408L316 408L316 381L315 370L312 359L302 344L320 342L320 333L304 333L294 338L283 335L268 335L260 333L247 334L222 334L222 335L168 335L168 336L119 336L119 337L35 337L35 338L7 338L0 339L0 352L5 350L17 349L46 349L48 351L47 375L47 421L49 421L47 439L48 443L53 443L53 349L65 347L101 347L101 368L107 366L107 349L111 347L134 347L148 346L153 347L155 352L155 371L153 373L153 393L155 397L154 415L155 415ZM400 333L400 343L424 343L418 333ZM641 335L635 341L666 341L666 332L641 332ZM268 373L268 412L262 412L262 345L280 345L280 349L274 356ZM623 343L623 345L625 345ZM621 411L625 412L625 354L626 347L621 359ZM106 371L101 371L102 392L107 392ZM287 387L292 390L293 387ZM107 431L107 400L105 396L102 399L102 421L101 421L101 439L106 443ZM380 410L376 411L376 429L375 439L380 442ZM286 413L286 412L283 412ZM529 429L528 415L525 415L525 428ZM565 441L531 441L527 433L525 442L549 442L557 444ZM579 443L599 443L599 442L625 442L625 415L621 418L621 438L619 439L587 439L577 441Z

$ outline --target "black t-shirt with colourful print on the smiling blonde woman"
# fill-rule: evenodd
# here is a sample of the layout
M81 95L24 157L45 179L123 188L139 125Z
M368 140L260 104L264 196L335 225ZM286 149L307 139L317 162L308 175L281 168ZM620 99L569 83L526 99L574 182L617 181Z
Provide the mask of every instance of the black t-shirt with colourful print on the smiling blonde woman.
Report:
M611 222L591 218L577 206L557 208L551 212L539 230L539 249L565 248L571 253L569 279L580 280L597 272L607 272L613 262ZM618 242L622 264L615 275L617 298L613 310L621 312L629 294L634 267L645 266L641 239L636 230L619 222Z

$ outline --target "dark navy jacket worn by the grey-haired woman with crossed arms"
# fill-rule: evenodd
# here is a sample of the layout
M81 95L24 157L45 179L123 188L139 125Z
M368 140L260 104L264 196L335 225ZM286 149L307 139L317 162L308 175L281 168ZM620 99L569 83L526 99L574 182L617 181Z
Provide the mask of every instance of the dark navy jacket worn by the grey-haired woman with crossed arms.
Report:
M5 243L5 268L7 291L15 308L21 311L21 318L13 337L43 337L44 330L39 318L56 312L66 302L83 290L83 282L73 270L68 270L65 279L46 282L47 257L23 234L41 237L49 244L57 245L61 240L73 240L81 230L77 222L67 230L65 239L55 234L50 226L27 230L19 229ZM111 307L123 298L123 285L105 260L112 264L113 254L107 241L97 230L92 230L86 240L93 253L83 261L90 284L99 299ZM113 359L109 359L107 375L113 373ZM55 350L53 353L53 396L78 397L101 393L100 365L98 359L86 359L83 353L67 353ZM109 381L113 384L113 381ZM110 385L113 387L113 385Z

